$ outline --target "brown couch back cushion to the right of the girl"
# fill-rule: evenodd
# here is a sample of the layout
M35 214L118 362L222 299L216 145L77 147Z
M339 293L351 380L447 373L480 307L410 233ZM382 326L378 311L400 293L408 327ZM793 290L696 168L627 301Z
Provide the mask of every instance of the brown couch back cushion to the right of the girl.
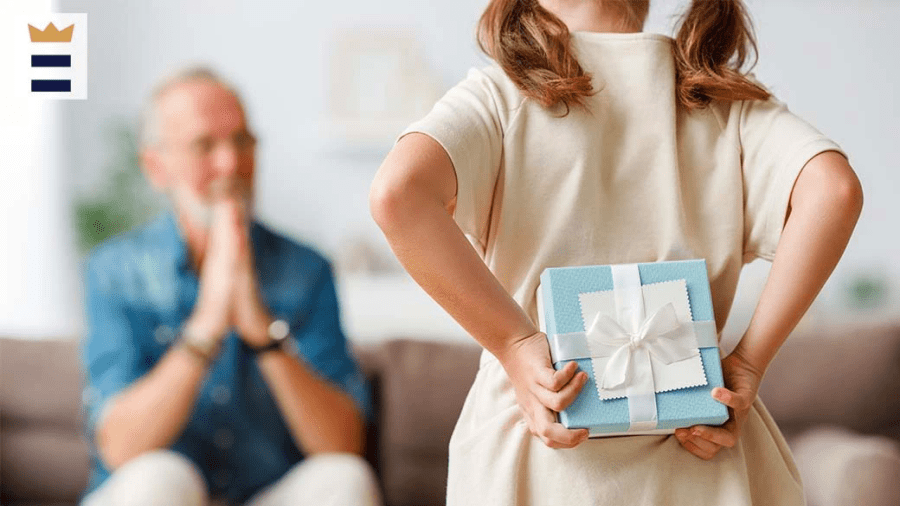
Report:
M900 421L900 323L813 330L782 345L760 386L779 425L872 432Z

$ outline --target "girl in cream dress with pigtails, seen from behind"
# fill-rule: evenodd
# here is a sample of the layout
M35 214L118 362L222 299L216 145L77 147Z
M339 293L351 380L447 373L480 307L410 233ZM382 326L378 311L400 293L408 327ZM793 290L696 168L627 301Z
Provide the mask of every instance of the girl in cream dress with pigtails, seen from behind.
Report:
M448 504L803 504L756 392L862 207L840 148L741 72L740 0L693 0L677 36L648 0L492 0L472 70L379 169L372 214L416 281L484 347L450 441ZM801 172L802 171L802 172ZM546 267L705 258L718 331L743 263L773 262L722 363L722 427L587 440L581 390L535 327Z

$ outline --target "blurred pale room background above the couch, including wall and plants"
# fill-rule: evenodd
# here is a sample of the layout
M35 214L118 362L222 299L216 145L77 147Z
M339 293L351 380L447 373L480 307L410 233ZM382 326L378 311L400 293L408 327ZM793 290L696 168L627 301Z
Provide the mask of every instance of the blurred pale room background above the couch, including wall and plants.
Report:
M207 63L242 90L261 139L258 215L335 262L350 337L431 330L437 339L468 339L401 272L366 196L403 127L468 68L487 64L474 39L484 0L3 1L10 10L86 12L90 29L88 99L11 102L0 119L0 332L81 333L82 255L162 205L137 165L142 100L174 68ZM757 76L849 153L866 191L853 240L809 317L895 317L900 60L892 20L900 3L747 4ZM671 34L685 5L654 0L645 29ZM728 335L746 325L767 272L762 261L745 269ZM410 305L419 310L397 312Z

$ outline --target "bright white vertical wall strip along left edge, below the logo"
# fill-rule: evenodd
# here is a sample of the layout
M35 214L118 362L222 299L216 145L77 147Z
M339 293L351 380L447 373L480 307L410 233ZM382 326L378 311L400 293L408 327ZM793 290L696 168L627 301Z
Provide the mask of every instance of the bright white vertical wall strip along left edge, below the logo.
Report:
M14 91L19 14L48 12L49 0L0 4L0 335L71 337L82 313L63 177L61 103Z

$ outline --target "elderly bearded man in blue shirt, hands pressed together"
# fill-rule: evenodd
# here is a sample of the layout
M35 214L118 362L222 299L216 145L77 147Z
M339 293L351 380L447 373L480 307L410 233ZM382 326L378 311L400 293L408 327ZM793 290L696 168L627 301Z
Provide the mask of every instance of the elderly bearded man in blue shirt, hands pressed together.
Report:
M87 261L83 504L377 504L330 266L251 218L237 93L181 72L143 126L144 172L172 211Z

